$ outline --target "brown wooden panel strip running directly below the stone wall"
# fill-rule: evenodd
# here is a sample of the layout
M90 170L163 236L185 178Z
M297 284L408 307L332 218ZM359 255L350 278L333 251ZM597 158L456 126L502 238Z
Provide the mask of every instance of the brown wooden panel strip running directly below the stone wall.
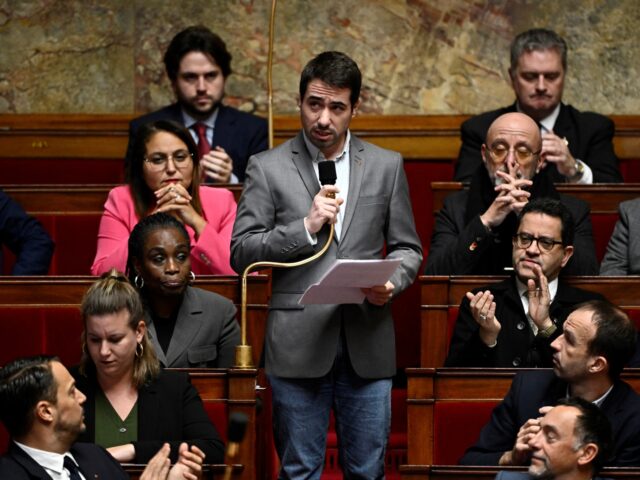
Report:
M0 157L124 157L133 115L0 115ZM351 131L363 139L401 152L408 159L451 162L460 148L460 124L468 115L366 115ZM640 117L617 116L614 146L621 159L637 159ZM276 145L300 129L294 115L274 117ZM91 153L87 153L91 152Z

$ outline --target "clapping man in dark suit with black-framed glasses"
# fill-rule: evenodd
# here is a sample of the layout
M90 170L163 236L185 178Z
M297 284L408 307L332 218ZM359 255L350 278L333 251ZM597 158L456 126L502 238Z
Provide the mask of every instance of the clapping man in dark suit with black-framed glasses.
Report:
M575 306L602 296L558 276L574 252L571 212L558 200L525 205L513 237L515 275L467 292L447 367L552 367L551 342Z

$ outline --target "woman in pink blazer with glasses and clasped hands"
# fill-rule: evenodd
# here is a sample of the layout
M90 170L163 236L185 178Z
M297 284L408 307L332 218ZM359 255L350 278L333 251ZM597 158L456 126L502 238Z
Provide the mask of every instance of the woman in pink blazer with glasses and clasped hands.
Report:
M236 202L229 190L200 186L198 149L189 131L167 120L143 125L133 152L128 185L111 190L104 205L91 273L124 271L133 227L147 215L167 212L189 232L195 274L235 275L229 245Z

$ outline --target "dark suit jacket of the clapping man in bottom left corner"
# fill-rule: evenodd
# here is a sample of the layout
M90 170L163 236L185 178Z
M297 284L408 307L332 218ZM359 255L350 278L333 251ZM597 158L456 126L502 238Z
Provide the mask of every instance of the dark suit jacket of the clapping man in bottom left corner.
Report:
M102 447L93 443L76 443L69 452L76 459L84 477L129 480L120 464ZM11 442L9 451L0 458L0 478L11 480L51 480L49 474L24 450Z

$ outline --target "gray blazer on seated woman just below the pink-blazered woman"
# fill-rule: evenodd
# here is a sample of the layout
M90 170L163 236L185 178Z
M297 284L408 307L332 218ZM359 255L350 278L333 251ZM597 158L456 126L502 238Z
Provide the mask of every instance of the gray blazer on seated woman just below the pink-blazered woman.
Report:
M231 300L201 288L187 287L165 355L156 327L145 312L149 337L165 368L227 368L240 343L236 307Z

